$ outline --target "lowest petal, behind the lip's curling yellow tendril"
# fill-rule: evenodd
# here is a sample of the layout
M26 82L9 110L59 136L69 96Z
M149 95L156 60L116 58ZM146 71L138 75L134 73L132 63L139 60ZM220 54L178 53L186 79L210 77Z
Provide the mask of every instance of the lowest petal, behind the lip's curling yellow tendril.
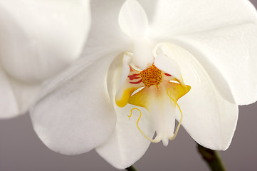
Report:
M120 83L124 83L121 79L125 76L127 78L127 70L129 67L126 58L117 56L107 72L107 90L110 95L112 104L115 106L117 113L117 123L114 133L110 136L109 140L104 145L96 148L96 151L107 162L119 169L124 169L134 164L137 160L144 155L150 141L147 140L137 129L137 119L139 113L133 111L132 117L129 120L127 115L130 115L132 105L127 104L123 108L117 107L115 104L115 95L120 88ZM128 70L130 71L130 70ZM123 75L124 74L124 75ZM145 108L140 108L142 111L142 118L140 119L140 128L150 138L154 133L149 113Z

